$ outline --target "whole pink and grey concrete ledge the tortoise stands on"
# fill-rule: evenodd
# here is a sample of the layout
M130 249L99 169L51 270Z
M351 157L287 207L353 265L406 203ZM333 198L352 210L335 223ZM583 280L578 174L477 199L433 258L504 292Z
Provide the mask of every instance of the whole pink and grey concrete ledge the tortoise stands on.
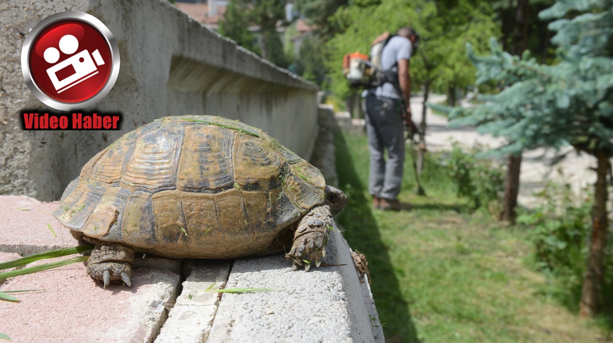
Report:
M20 210L24 204L29 211ZM55 206L0 196L6 209L0 221L11 223L0 226L0 260L74 247L67 229L54 229L53 237L47 227L59 226L47 211ZM179 260L147 255L135 261L132 288L104 289L84 263L13 277L0 290L44 291L19 293L18 303L0 301L0 332L13 342L383 342L368 283L359 282L338 231L326 251L331 266L310 272L292 272L283 255L188 260L182 272ZM228 273L226 288L282 291L203 292L211 283L219 288Z

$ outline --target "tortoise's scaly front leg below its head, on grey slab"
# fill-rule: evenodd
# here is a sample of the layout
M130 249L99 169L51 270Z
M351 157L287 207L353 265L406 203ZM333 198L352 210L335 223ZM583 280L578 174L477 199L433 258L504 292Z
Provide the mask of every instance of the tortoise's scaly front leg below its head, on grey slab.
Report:
M287 260L294 261L292 271L299 266L308 271L313 263L318 267L321 265L321 260L326 257L329 228L332 228L332 213L326 205L314 207L300 219L292 249L285 255Z

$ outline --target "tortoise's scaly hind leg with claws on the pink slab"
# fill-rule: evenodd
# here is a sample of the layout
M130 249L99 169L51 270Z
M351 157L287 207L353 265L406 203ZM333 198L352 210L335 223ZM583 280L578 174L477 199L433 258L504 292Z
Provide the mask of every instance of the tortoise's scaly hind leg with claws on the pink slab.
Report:
M132 287L132 263L134 249L127 245L99 242L91 251L87 272L94 280L100 280L104 287L111 282L124 282Z

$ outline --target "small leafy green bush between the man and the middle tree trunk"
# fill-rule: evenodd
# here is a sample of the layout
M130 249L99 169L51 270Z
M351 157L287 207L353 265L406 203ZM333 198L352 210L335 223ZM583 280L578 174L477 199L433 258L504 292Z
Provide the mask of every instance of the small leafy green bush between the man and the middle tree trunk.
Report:
M495 161L478 158L481 150L473 147L464 152L459 143L454 142L447 159L449 177L457 186L457 196L469 199L475 209L495 205L503 192L503 169Z

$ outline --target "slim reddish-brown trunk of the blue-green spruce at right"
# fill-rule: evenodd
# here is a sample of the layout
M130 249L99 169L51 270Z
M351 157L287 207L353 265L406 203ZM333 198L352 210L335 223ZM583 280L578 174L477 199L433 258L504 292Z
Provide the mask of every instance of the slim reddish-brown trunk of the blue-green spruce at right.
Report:
M579 316L593 317L602 303L601 287L604 274L604 248L607 236L607 163L609 159L603 152L596 153L596 185L594 206L592 207L592 240L590 255L587 258L587 271L581 290Z

